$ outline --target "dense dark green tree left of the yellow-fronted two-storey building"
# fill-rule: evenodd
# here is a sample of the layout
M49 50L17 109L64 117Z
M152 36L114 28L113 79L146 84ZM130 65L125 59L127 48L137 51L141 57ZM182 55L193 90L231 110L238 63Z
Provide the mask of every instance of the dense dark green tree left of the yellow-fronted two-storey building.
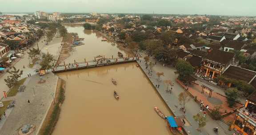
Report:
M184 60L179 60L175 68L179 74L178 78L184 81L186 81L186 78L188 77L188 75L192 74L194 71L193 66Z

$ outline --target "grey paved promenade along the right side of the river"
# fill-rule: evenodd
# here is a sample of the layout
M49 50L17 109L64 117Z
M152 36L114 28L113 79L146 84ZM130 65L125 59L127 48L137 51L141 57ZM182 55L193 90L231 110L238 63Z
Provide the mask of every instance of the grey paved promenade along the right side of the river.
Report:
M155 61L155 60L152 60ZM141 60L141 63L138 62L143 69L143 71L147 74L148 69L145 69L145 62L144 60ZM160 87L157 89L159 91L160 95L164 99L164 101L167 103L168 107L172 110L174 115L184 115L180 110L180 103L178 101L178 95L181 92L184 92L184 89L180 87L178 83L176 83L176 78L178 75L175 75L176 70L171 67L163 67L161 64L157 63L153 67L153 75L151 78L149 78L153 85L156 84L156 72L164 72L164 76L161 78L163 80L170 80L174 83L174 87L172 90L172 94L166 93L167 85L164 84L164 82L160 82ZM175 105L178 106L178 108L175 107ZM192 126L185 127L186 131L189 131L189 135L216 135L213 132L213 127L219 127L219 135L232 135L232 131L228 131L228 126L220 121L213 120L209 115L207 115L207 124L203 128L202 132L196 131L196 128L198 126L197 122L193 119L193 115L196 115L200 112L199 105L194 101L190 100L188 103L186 103L185 108L187 110L185 117L188 120L188 122Z

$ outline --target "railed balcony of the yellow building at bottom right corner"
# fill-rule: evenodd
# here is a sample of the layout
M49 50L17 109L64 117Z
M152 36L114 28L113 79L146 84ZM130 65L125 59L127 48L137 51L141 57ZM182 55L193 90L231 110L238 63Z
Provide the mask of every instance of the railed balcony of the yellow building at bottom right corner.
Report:
M245 108L241 108L239 111L239 116L246 119L248 123L252 124L254 127L256 127L256 114L249 113Z

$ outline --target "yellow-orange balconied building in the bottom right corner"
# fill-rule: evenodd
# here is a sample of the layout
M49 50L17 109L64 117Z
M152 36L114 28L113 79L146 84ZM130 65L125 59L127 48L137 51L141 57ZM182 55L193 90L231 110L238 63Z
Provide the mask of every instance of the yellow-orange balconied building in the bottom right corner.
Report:
M230 126L239 135L256 135L256 92L250 95L243 108L238 110Z

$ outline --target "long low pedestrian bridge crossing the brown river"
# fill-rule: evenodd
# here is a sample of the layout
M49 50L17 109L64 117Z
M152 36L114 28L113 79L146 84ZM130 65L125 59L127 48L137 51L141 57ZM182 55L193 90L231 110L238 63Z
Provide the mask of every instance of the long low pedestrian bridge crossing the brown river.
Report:
M53 73L58 72L64 72L64 71L72 71L72 70L78 70L78 69L84 69L89 67L99 67L99 66L106 66L106 65L113 65L113 64L123 64L123 63L129 63L129 62L135 62L136 60L139 60L139 57L133 57L133 58L113 58L113 59L106 59L103 61L84 61L84 62L78 62L73 64L65 64L59 65L57 67L52 68Z

